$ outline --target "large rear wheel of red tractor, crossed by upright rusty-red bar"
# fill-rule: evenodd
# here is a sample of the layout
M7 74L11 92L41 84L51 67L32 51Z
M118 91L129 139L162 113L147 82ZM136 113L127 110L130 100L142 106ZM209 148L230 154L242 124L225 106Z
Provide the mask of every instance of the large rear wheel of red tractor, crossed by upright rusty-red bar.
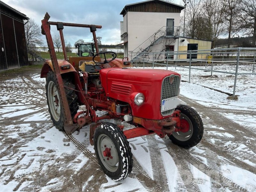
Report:
M72 79L67 74L62 75L62 80L65 87L69 87L72 89L76 88L75 85L72 84L71 82ZM57 91L56 85L57 85L57 79L53 71L48 72L46 77L46 85L45 85L47 105L49 108L49 113L51 115L53 125L57 129L62 131L64 129L64 110L59 103L60 97L59 97L59 93ZM66 92L71 116L73 118L76 115L79 107L77 104L77 95L75 91L72 89L65 88L65 92Z

